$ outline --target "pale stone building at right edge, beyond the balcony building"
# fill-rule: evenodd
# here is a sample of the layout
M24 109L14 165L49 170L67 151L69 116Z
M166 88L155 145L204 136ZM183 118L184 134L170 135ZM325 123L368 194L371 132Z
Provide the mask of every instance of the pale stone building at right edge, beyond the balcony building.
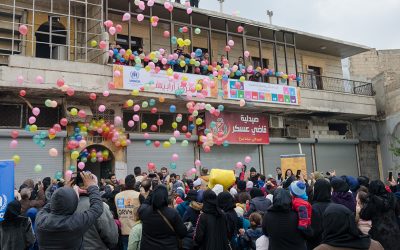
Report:
M400 159L390 150L400 138L400 50L370 50L350 57L350 74L372 81L376 92L377 132L383 173L400 172Z

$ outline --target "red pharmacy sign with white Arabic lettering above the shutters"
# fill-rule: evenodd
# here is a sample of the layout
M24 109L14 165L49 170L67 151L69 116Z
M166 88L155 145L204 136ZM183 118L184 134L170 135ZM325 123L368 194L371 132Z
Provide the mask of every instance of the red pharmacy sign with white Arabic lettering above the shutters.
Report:
M206 124L215 140L230 144L269 144L266 115L222 112L215 117L207 112Z

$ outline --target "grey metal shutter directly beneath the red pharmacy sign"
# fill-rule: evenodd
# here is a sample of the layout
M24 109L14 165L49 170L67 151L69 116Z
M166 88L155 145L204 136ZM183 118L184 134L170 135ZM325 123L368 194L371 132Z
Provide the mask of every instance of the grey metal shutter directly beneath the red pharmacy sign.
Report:
M251 157L251 162L246 164L244 158ZM258 145L229 145L228 147L214 146L211 152L204 153L200 150L200 160L202 167L212 169L236 169L236 163L241 161L247 165L247 170L251 167L260 172L260 158L258 153Z

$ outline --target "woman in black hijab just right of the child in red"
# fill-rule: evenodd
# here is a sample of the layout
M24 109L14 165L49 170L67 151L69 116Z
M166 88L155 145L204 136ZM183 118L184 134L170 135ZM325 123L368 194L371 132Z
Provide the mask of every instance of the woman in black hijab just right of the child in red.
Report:
M314 183L311 228L313 237L307 240L307 248L314 249L322 242L322 221L326 208L331 204L332 186L326 179L317 179Z

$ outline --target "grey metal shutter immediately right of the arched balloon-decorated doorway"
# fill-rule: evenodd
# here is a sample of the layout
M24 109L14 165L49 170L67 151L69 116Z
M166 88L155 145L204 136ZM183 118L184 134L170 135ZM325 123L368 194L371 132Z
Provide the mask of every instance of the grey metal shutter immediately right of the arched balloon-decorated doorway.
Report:
M140 166L142 171L147 171L147 163L153 162L158 171L161 167L167 167L170 173L183 174L194 167L194 144L189 142L187 147L182 147L180 142L171 145L169 148L161 146L156 148L151 144L146 146L144 141L133 141L127 147L128 174L133 174L133 169ZM176 169L170 168L172 154L178 154Z

